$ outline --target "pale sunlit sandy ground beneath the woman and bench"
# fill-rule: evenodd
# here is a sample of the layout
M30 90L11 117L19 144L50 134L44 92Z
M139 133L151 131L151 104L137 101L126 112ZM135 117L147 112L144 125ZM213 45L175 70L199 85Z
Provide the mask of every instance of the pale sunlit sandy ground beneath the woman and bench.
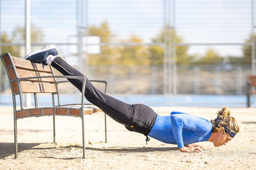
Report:
M161 115L184 111L215 118L220 108L153 108ZM0 107L0 169L256 169L256 108L231 108L241 132L226 146L210 142L204 153L182 153L177 145L129 132L108 117L104 143L104 115L86 115L86 159L82 159L81 118L56 117L56 144L52 117L18 120L19 158L14 159L12 107Z

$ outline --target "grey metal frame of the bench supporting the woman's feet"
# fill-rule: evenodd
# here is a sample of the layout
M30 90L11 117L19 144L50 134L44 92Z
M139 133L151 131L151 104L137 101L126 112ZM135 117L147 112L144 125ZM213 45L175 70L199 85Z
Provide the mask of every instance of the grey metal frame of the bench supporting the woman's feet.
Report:
M8 59L10 60L11 64L10 66L6 66L6 62L4 61L3 57L8 57ZM84 113L86 114L92 114L92 113L96 113L100 110L99 108L97 108L96 106L92 105L92 104L86 104L84 103L84 89L85 89L85 85L86 85L86 78L84 76L55 76L54 71L52 69L51 66L49 66L51 68L51 73L53 74L53 76L31 76L31 77L26 77L26 78L19 78L18 74L17 74L17 69L16 66L12 60L12 56L10 55L10 53L2 53L1 54L1 59L3 61L4 67L6 69L6 73L8 74L8 79L10 81L10 87L12 89L12 99L13 99L13 120L14 120L14 143L15 143L15 158L18 157L18 144L17 144L17 120L20 118L27 118L27 117L42 117L42 116L52 116L53 117L53 142L56 143L56 138L55 138L55 116L70 116L70 117L80 117L82 120L82 131L83 131L83 158L85 158L85 143L84 143ZM33 63L36 67L36 64ZM11 79L10 75L8 73L8 69L9 68L13 68L13 71L15 73L15 78ZM23 92L21 90L21 86L20 86L20 82L22 81L26 81L32 78L54 78L54 84L56 85L56 91L52 94L52 107L41 107L38 108L38 101L37 101L37 93L33 93L34 94L34 100L35 100L35 108L25 108L24 104L23 104ZM60 104L60 90L58 89L58 85L60 83L67 83L69 81L57 81L56 78L72 78L72 79L77 79L77 80L81 80L83 81L83 88L82 88L82 92L81 92L81 103L79 104ZM17 81L17 85L18 85L18 89L19 92L14 92L13 91L13 87L12 87L12 82L13 81ZM31 80L29 80L31 81ZM104 83L105 84L105 89L104 92L106 94L106 90L107 90L107 85L108 82L104 81L104 80L90 80L93 82L99 82L99 83ZM40 93L44 93L44 92L40 92ZM58 99L58 104L55 104L54 101L54 96L57 96ZM20 99L20 109L17 109L17 103L16 103L16 98L15 96L19 96ZM74 108L74 106L77 106L78 108ZM45 110L50 109L53 110L53 113L44 113ZM33 111L40 111L40 114L36 114L36 115L31 115L31 110ZM67 110L67 113L63 113L61 114L60 111L61 110ZM77 114L70 114L70 110L75 111L75 113ZM56 113L56 111L58 111L59 113ZM80 113L80 114L78 114ZM17 115L19 115L17 117ZM106 114L104 114L104 121L105 121L105 142L107 142L107 130L106 130Z

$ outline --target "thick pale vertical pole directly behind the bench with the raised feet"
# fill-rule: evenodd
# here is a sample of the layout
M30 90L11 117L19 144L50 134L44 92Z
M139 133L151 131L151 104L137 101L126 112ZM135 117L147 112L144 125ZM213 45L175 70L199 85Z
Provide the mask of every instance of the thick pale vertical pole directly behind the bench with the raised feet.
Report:
M31 52L31 37L30 37L30 0L26 0L26 54ZM25 106L31 107L31 94L26 94Z

